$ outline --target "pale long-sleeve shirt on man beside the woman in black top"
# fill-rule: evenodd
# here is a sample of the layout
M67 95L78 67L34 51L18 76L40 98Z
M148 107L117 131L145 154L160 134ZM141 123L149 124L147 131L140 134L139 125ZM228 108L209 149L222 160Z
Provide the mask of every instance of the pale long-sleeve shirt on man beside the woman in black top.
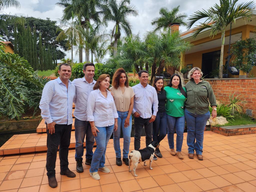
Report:
M156 89L149 84L144 88L141 83L132 88L135 93L132 113L137 111L143 119L151 118L153 104L153 115L156 115L158 111Z

